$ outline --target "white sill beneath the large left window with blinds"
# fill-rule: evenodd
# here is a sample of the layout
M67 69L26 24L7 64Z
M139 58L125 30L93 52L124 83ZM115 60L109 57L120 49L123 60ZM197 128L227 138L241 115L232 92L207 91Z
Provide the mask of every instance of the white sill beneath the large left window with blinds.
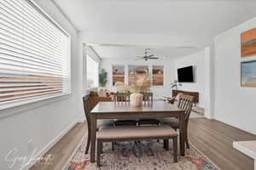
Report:
M34 99L30 101L25 100L24 102L16 105L15 104L6 105L0 108L0 118L5 116L15 115L16 113L22 113L24 111L32 110L34 108L38 108L43 105L49 105L57 101L65 100L71 94L72 93L60 94L60 95L50 96L44 99Z

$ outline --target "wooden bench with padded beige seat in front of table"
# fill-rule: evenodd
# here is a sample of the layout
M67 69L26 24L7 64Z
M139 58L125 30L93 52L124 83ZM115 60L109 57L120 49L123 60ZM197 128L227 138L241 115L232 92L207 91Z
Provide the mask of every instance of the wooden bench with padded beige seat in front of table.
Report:
M173 161L177 162L177 136L178 133L170 126L117 126L102 127L96 132L97 139L97 167L101 165L102 143L119 141L136 141L143 139L173 140ZM167 148L167 147L166 147Z

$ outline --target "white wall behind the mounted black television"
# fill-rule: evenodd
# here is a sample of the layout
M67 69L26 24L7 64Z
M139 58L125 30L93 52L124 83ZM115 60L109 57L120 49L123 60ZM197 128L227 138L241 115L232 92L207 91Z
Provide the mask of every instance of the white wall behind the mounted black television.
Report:
M199 92L198 106L205 107L205 50L196 54L190 54L175 60L175 75L177 79L177 69L185 66L194 66L194 81L183 82L182 90Z

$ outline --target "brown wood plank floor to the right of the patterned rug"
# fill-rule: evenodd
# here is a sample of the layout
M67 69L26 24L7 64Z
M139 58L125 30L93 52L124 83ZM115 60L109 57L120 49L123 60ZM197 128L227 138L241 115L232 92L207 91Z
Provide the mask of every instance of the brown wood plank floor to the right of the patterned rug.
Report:
M256 140L256 136L222 122L189 120L189 141L222 170L253 170L253 159L233 149L233 141Z

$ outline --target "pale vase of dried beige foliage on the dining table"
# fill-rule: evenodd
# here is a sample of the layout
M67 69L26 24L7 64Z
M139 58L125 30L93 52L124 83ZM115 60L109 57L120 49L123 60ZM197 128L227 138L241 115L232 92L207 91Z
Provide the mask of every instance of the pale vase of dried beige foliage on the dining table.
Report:
M140 106L143 103L143 92L148 92L150 88L151 82L149 79L149 75L146 77L139 79L137 75L135 76L135 80L131 82L131 85L127 85L124 82L116 82L115 86L124 91L129 91L130 95L130 104L132 106Z

